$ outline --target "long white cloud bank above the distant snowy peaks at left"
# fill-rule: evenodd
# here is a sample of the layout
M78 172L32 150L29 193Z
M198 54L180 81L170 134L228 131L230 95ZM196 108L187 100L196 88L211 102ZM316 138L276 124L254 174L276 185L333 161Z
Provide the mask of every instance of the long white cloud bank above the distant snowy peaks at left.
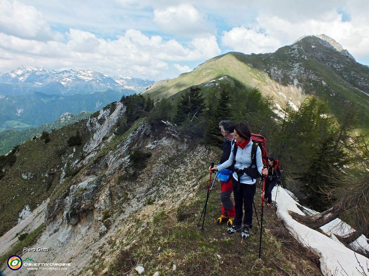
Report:
M93 69L110 75L163 79L188 67L169 71L172 61L206 60L220 53L215 36L193 39L189 46L161 36L148 37L130 29L117 39L101 39L90 32L70 29L66 43L15 38L0 33L0 55L29 66L64 70ZM27 62L29 62L27 64ZM4 64L5 66L5 64ZM15 69L17 66L13 66Z

